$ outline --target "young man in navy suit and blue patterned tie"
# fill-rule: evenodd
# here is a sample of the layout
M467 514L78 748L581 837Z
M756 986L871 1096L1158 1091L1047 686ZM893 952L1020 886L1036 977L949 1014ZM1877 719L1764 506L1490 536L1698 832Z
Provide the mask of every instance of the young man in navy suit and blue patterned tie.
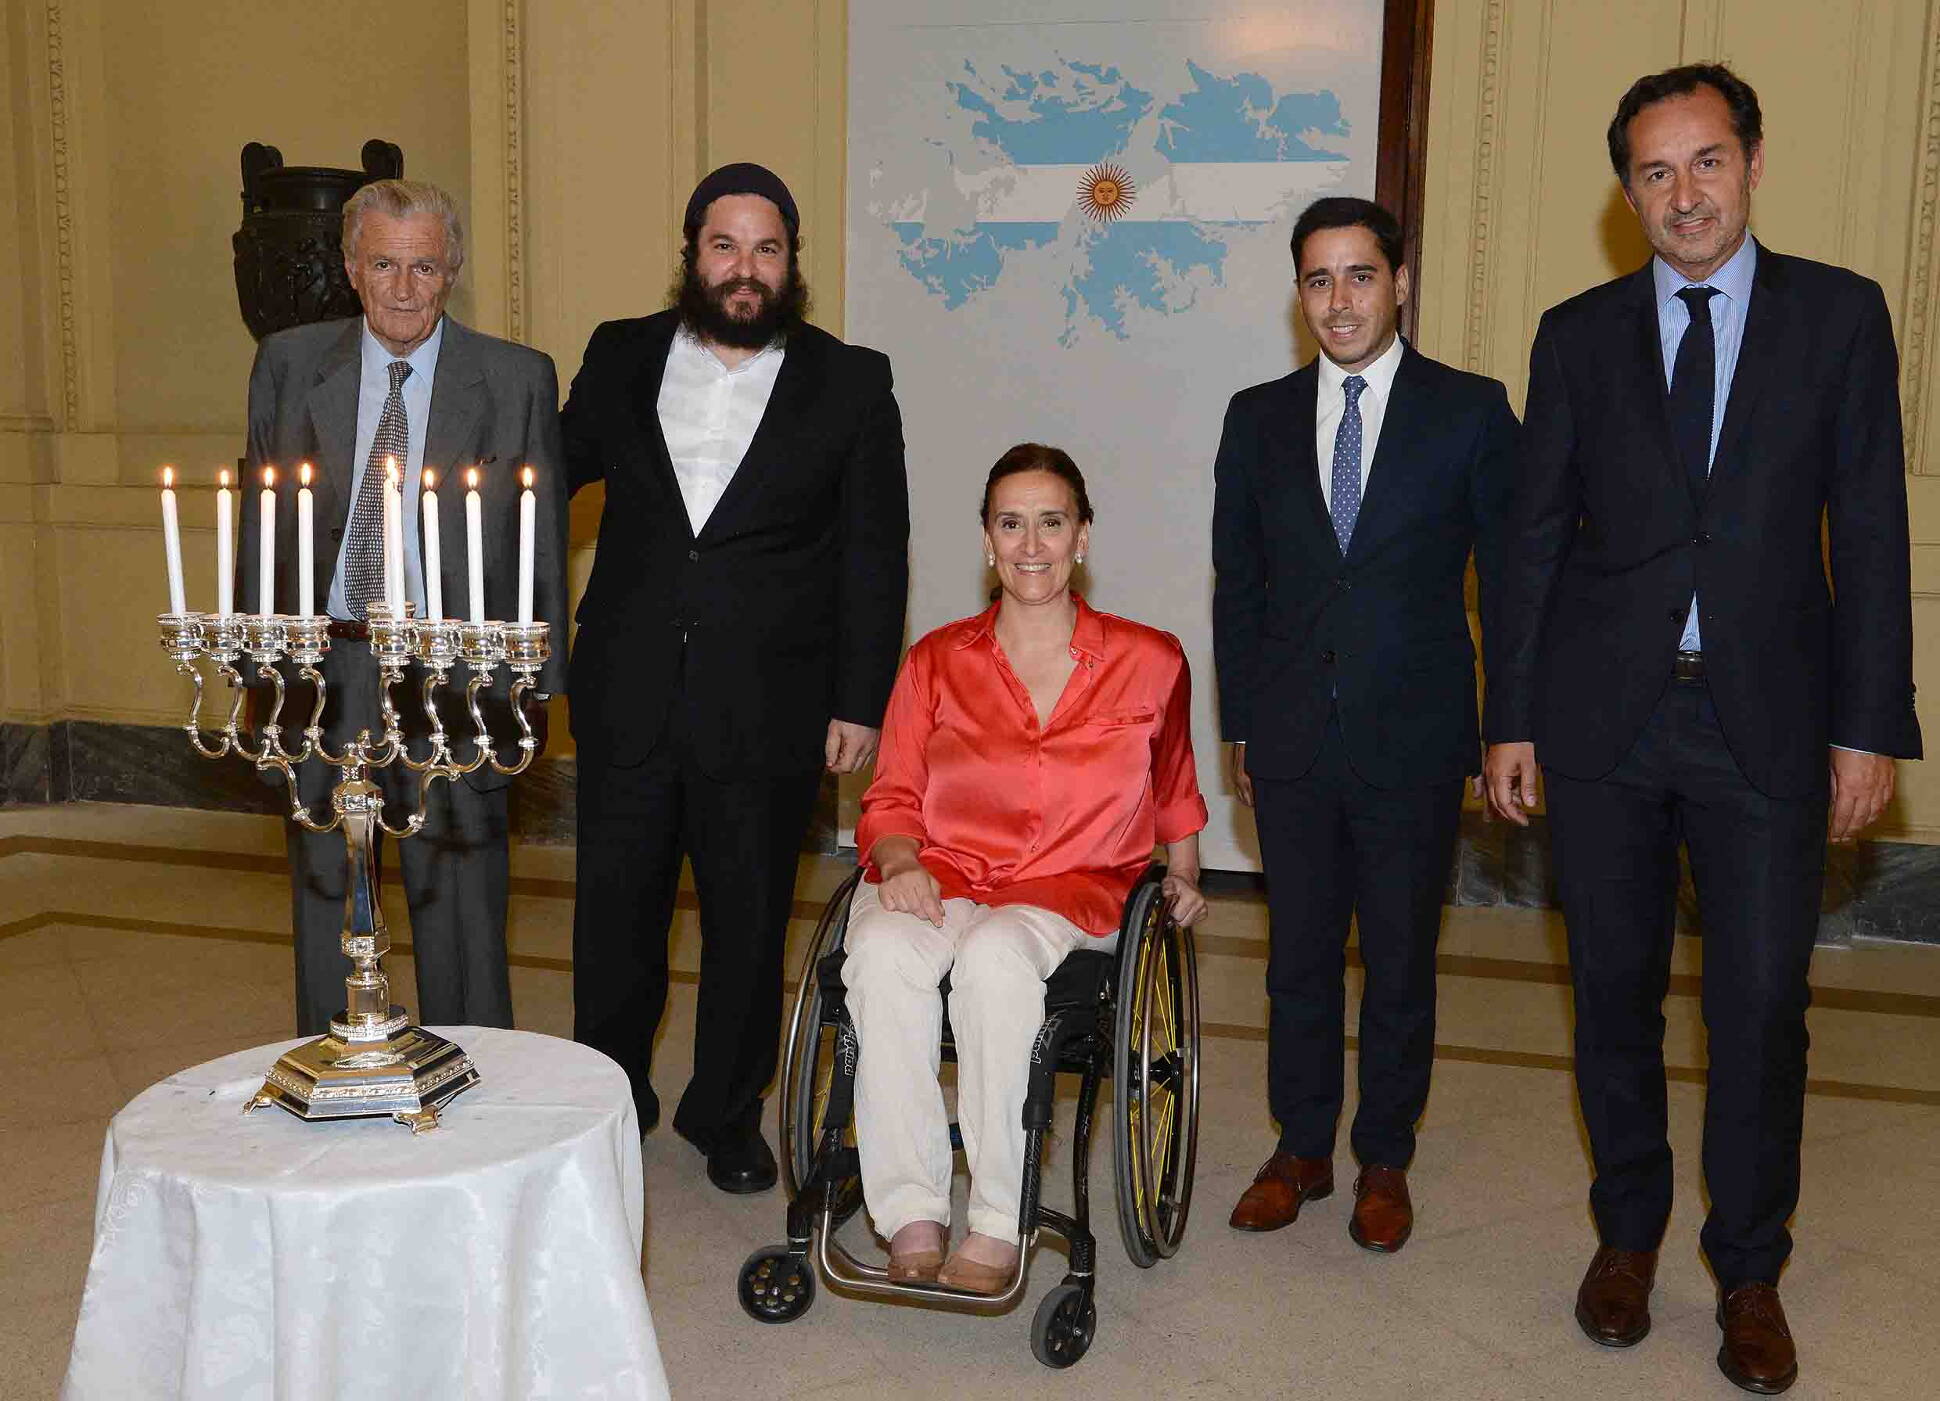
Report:
M1319 200L1294 225L1300 312L1321 355L1234 396L1212 505L1212 646L1240 799L1259 817L1280 1141L1234 1207L1278 1230L1333 1191L1342 972L1360 929L1360 1158L1348 1234L1401 1250L1406 1168L1436 1040L1436 939L1482 745L1463 580L1515 475L1502 384L1395 334L1401 225Z

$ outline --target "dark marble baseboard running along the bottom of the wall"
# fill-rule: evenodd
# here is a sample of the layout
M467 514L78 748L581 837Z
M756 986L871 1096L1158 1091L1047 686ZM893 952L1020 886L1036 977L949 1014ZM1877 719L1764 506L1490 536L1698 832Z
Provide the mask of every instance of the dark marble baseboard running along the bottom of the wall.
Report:
M524 842L572 844L572 757L541 759L512 786L512 831ZM235 761L210 763L180 730L62 720L0 724L0 807L107 801L219 811L281 811L279 790ZM836 850L836 784L823 780L803 850ZM1259 893L1257 875L1209 871L1216 895ZM1527 829L1463 813L1447 902L1459 906L1550 908L1556 887L1544 819ZM1698 904L1686 869L1678 924L1696 929ZM1826 854L1820 943L1855 939L1940 943L1940 846L1860 842Z

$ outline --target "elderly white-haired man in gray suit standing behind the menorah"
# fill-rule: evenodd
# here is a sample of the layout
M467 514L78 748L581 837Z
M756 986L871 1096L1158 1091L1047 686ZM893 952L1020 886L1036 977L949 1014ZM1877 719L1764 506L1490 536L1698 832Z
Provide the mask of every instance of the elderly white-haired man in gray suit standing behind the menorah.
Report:
M248 384L248 464L275 466L277 582L275 605L297 609L297 493L303 462L316 477L314 598L330 613L324 710L332 749L359 730L382 732L376 664L371 658L367 607L382 598L382 477L386 458L404 470L407 491L404 578L411 602L425 607L421 514L415 485L429 468L444 485L438 516L446 613L466 600L466 534L458 470L483 464L479 495L485 524L487 617L516 617L518 470L534 468L539 497L534 617L551 623L553 660L539 691L563 691L566 615L566 491L559 448L559 382L553 361L460 326L444 314L464 266L464 227L452 198L417 180L367 184L343 210L343 266L363 301L363 316L297 326L268 336L256 351ZM246 491L237 598L256 600L254 491ZM462 671L460 671L462 677ZM504 669L499 673L501 695ZM543 697L541 697L543 699ZM415 691L400 687L407 733L417 732ZM307 691L291 695L283 724L301 726ZM291 716L297 716L291 720ZM456 708L446 724L458 720ZM545 712L532 708L543 743ZM501 710L501 726L504 716ZM458 726L469 733L469 724ZM421 749L419 749L421 753ZM460 757L469 745L458 745ZM299 794L310 811L328 815L338 772L303 766ZM402 765L374 770L396 825L417 807L417 776ZM398 846L411 945L417 961L417 1019L431 1025L512 1025L512 988L504 962L504 916L510 887L506 856L506 784L489 770L433 784L427 821ZM289 832L293 920L297 931L297 1030L328 1028L343 1007L351 970L341 951L345 860L336 832Z

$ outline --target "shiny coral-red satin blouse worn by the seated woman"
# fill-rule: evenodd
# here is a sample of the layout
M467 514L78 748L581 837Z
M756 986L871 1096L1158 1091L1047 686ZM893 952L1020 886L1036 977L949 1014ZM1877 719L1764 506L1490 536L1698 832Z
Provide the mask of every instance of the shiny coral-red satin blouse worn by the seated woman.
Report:
M1197 832L1207 805L1180 640L1073 600L1077 666L1042 730L997 603L910 648L856 846L912 836L945 900L1034 904L1108 935L1152 846Z

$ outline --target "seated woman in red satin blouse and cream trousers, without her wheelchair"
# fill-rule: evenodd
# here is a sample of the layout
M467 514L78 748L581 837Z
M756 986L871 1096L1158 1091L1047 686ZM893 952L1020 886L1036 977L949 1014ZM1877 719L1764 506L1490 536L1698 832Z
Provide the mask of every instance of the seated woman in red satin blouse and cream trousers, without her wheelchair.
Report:
M861 1046L863 1201L894 1281L1005 1287L1020 1248L1022 1104L1044 980L1073 949L1117 933L1154 844L1174 918L1205 914L1185 654L1170 633L1071 592L1090 522L1067 454L1034 442L1005 452L982 508L997 602L910 648L883 722L842 980ZM970 1164L968 1236L949 1261L945 974Z

